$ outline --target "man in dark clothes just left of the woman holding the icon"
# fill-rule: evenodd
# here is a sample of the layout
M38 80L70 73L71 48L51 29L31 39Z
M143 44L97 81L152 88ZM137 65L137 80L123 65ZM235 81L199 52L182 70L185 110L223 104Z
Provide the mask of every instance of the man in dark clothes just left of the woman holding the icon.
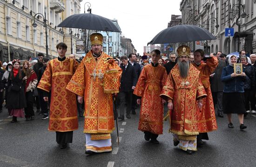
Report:
M223 83L221 81L221 75L222 75L223 67L226 67L227 64L224 60L220 58L220 55L222 55L221 51L217 51L216 57L218 58L218 66L216 67L216 70L210 75L210 84L211 84L214 107L217 104L218 116L222 118L223 117L223 110L222 110Z

